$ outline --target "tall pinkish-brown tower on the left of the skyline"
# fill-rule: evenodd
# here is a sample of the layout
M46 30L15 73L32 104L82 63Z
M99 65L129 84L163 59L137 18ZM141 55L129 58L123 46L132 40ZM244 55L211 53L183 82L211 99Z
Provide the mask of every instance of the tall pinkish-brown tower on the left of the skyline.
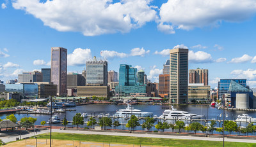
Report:
M67 49L51 48L51 82L57 85L57 95L67 93Z

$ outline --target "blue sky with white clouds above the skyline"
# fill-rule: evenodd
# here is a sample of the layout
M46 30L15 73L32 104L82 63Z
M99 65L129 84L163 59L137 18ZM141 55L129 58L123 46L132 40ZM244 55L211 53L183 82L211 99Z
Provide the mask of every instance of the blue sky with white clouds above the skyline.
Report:
M172 48L189 49L189 69L209 85L246 78L256 87L255 0L0 0L0 80L51 67L51 47L68 50L68 72L95 55L143 69L152 82Z

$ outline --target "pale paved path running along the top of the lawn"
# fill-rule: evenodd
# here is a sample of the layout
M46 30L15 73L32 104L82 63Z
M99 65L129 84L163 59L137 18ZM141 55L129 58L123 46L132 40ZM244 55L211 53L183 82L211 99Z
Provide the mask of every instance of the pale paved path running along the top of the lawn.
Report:
M37 132L37 134L49 133L49 130L42 130ZM195 137L195 136L172 136L172 135L158 135L158 134L132 134L132 133L123 133L123 132L96 132L96 131L81 131L81 130L60 130L60 129L52 129L52 132L62 132L62 133L75 133L75 134L99 134L99 135L111 135L111 136L132 136L132 137L155 137L155 138L170 138L170 139L189 139L189 140L204 140L204 141L223 141L223 138L218 137ZM35 133L36 134L36 133ZM22 138L25 137L33 137L34 133L22 135ZM10 141L15 141L16 137L19 136L11 136L11 137L1 137L4 143L8 143ZM231 139L225 138L225 141L230 142L240 142L240 143L256 143L256 139Z

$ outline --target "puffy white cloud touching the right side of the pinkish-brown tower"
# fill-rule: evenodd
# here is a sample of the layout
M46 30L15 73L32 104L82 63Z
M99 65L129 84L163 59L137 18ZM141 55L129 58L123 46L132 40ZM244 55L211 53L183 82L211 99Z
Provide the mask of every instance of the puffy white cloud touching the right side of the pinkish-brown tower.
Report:
M92 59L90 49L76 48L73 53L68 54L68 66L85 66L88 59Z

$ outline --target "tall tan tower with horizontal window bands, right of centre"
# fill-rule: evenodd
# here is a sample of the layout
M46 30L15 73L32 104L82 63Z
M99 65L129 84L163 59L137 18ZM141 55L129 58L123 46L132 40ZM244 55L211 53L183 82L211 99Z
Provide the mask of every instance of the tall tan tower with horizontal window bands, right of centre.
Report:
M170 50L170 103L188 104L188 49Z

